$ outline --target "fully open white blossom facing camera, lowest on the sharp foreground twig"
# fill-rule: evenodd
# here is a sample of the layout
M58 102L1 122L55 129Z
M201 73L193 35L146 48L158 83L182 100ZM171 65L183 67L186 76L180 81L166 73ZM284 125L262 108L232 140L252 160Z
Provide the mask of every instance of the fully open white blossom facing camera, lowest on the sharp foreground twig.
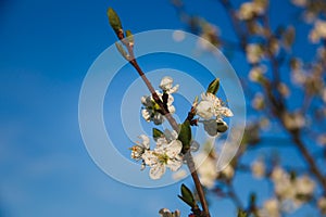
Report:
M183 144L179 140L164 143L153 151L145 151L141 155L146 165L150 166L150 178L160 179L166 170L176 171L183 166L183 157L179 155Z

